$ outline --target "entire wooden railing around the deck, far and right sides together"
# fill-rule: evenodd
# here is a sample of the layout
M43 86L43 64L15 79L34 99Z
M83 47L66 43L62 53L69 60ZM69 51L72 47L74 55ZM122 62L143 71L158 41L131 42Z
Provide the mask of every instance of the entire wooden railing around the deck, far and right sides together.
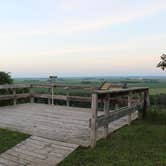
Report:
M68 91L69 89L88 90L91 92L91 96L89 97L71 96L69 93L66 93L66 95L56 95L55 91L56 88L58 87L61 87L66 91ZM38 89L46 88L48 89L47 91L48 93L39 93L36 91L37 88ZM132 121L132 114L135 112L139 112L139 116L145 117L149 105L149 89L146 87L115 89L115 90L100 90L96 87L87 87L87 86L31 84L31 85L0 85L0 91L1 90L6 90L8 93L0 94L0 101L13 100L14 105L17 105L17 100L22 98L29 99L30 103L35 103L34 99L44 98L48 100L47 103L49 105L54 105L55 100L63 100L66 102L66 105L68 107L70 106L71 101L91 103L91 109L87 109L87 111L90 110L90 112L88 112L88 115L86 116L89 117L89 119L86 119L86 121L89 122L89 124L87 125L89 126L87 128L87 130L89 131L89 136L87 136L89 142L87 145L91 147L95 147L96 145L96 140L98 139L97 136L98 130L103 128L104 135L101 136L100 138L102 137L106 138L108 134L110 134L109 126L111 125L111 123L117 121L120 118L127 116L128 124L130 124ZM118 102L116 103L112 102L116 100L118 101L123 100L124 105L121 105ZM84 144L80 143L80 145Z

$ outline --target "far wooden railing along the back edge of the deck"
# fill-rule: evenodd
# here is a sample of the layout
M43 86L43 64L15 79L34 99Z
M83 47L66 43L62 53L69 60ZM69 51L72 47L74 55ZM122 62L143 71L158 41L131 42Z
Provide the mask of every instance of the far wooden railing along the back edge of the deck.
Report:
M45 93L41 91L37 92L36 89L47 89ZM65 95L55 94L56 88L61 88L65 90ZM24 93L23 89L27 89L28 92ZM96 89L96 87L89 86L72 86L72 85L59 85L59 84L15 84L15 85L0 85L0 90L6 90L8 93L1 94L0 92L0 101L2 100L13 100L13 104L17 104L17 100L21 98L30 98L30 102L34 103L35 99L46 99L48 100L48 104L54 105L55 100L63 100L66 102L67 106L70 106L71 101L75 102L91 102L90 96L73 96L70 95L70 90L81 89L84 91L89 91L89 94ZM17 92L18 90L22 90L21 92Z

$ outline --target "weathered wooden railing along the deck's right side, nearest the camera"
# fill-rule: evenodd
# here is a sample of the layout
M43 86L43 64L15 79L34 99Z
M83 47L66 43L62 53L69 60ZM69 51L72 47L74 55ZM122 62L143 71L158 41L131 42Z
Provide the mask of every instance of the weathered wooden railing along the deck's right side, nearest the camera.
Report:
M118 104L115 105L114 110L110 110L110 99L112 97L126 97L127 106L119 108ZM143 100L142 100L143 98ZM98 115L99 100L103 100L103 113ZM133 112L139 111L139 115L144 118L146 116L147 107L149 105L149 89L148 88L130 88L121 90L96 90L92 94L92 117L90 119L90 145L95 147L97 139L97 130L104 127L104 137L109 134L109 123L120 119L121 117L128 116L128 124L131 123L131 115ZM140 109L142 108L142 109ZM140 111L141 110L141 111Z

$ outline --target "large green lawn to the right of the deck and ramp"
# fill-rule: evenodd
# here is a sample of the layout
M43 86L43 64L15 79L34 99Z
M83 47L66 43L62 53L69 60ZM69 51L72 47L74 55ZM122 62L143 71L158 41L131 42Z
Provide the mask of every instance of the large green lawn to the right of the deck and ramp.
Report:
M166 125L135 121L95 149L79 148L58 166L165 166Z

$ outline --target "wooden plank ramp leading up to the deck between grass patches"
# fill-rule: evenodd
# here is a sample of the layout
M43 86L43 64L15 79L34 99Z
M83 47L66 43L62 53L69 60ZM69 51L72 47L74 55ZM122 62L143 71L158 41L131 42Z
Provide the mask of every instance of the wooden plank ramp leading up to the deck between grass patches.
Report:
M78 145L31 136L0 155L0 166L55 166Z

